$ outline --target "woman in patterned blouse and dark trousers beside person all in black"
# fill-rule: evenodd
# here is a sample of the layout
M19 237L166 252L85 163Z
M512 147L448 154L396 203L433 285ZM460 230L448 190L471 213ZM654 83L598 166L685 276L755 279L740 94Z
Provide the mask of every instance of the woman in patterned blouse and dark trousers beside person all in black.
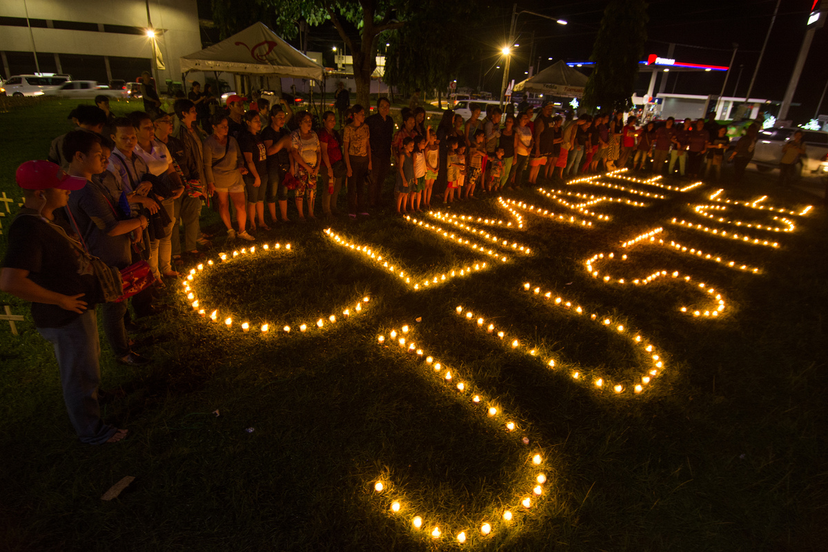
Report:
M370 131L365 124L365 109L357 103L351 108L351 121L342 137L342 154L348 170L348 216L368 216L365 206L365 177L371 172Z

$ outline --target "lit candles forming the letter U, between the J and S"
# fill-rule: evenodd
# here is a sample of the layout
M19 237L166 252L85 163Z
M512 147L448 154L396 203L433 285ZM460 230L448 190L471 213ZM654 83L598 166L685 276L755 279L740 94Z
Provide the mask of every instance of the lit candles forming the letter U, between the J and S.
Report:
M585 314L585 309L580 305L573 305L571 301L566 301L560 296L553 296L551 291L543 291L539 286L532 287L532 284L526 282L523 284L523 289L527 291L531 291L534 295L538 297L542 297L543 300L549 301L552 305L559 306L563 309L570 310L575 314ZM556 362L554 358L551 358L549 355L545 355L536 347L532 347L531 345L524 344L524 342L520 338L515 338L513 336L509 336L503 329L498 329L493 323L489 322L487 319L483 317L479 317L469 311L465 311L462 306L458 306L455 311L457 314L463 316L466 320L473 322L479 329L484 329L488 334L496 335L503 343L508 343L508 347L520 351L522 353L528 354L531 357L541 358L542 362L546 365L546 367L555 368L559 366L559 362ZM475 318L475 317L478 318ZM652 346L652 343L647 343L647 340L643 338L641 334L635 334L629 332L628 329L624 328L623 324L613 324L612 320L604 317L600 318L598 314L588 314L591 320L594 320L597 324L600 324L606 327L608 330L613 330L618 334L623 334L626 337L630 338L633 345L637 348L642 349L642 352L645 354L647 358L652 360L652 365L646 368L646 372L640 378L640 380L636 380L629 385L623 385L622 383L615 383L611 384L608 380L604 379L604 377L594 377L592 382L593 384L598 387L599 389L603 389L606 387L612 387L613 391L616 394L622 394L624 391L627 391L628 388L632 388L633 394L638 395L644 390L644 386L652 382L652 377L657 376L662 370L664 369L664 361L662 358L655 353L655 348ZM587 378L584 377L584 374L579 371L572 371L570 372L570 376L572 379L583 382Z

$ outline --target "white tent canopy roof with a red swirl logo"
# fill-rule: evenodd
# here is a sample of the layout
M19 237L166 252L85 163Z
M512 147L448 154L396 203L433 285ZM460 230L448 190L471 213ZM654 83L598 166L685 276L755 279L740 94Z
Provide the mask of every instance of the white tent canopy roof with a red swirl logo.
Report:
M261 22L181 58L182 71L227 71L322 80L324 70Z

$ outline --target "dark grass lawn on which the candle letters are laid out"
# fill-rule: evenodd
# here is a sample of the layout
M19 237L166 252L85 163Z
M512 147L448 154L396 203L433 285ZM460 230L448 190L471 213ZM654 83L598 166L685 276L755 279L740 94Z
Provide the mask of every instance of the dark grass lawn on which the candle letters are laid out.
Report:
M140 105L114 106L133 108ZM15 168L46 156L69 109L55 102L0 114L0 194L20 197ZM170 309L144 319L147 330L135 336L155 362L118 366L102 343L103 413L130 430L121 444L77 442L51 348L27 306L3 295L26 321L19 336L0 321L0 550L825 550L828 228L820 200L780 192L767 177L717 198L767 194L762 204L796 213L815 205L806 216L770 214L708 199L715 185L680 192L602 180L665 199L544 182L546 190L645 205L592 204L589 216L535 190L506 192L504 199L575 218L513 207L522 229L496 198L448 209L435 202L449 214L503 220L474 228L507 240L506 248L427 215L419 218L469 244L390 216L332 223L354 249L321 224L276 228L253 244L256 252L236 258L233 248L250 244L219 238L209 252L214 266L192 283L218 322L201 318L174 283ZM754 226L704 218L691 204L726 206L709 212ZM0 218L3 231L11 216ZM216 215L204 216L218 232ZM755 228L788 228L773 216L796 228ZM621 247L659 227L652 244ZM472 247L484 243L507 260ZM585 262L599 253L593 277ZM657 271L665 275L631 283ZM705 316L718 308L715 295L724 310ZM264 323L270 331L262 335ZM406 353L411 342L432 362ZM644 384L650 370L657 373ZM539 474L546 482L535 496ZM103 502L125 476L135 481Z

